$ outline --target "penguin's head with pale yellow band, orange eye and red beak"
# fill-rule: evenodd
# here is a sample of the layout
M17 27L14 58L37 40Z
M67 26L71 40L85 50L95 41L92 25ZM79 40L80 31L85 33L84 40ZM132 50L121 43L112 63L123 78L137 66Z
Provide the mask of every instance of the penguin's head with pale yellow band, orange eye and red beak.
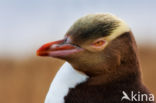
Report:
M120 65L132 45L132 33L123 20L109 13L89 14L78 19L62 40L41 46L37 55L66 60L94 76Z

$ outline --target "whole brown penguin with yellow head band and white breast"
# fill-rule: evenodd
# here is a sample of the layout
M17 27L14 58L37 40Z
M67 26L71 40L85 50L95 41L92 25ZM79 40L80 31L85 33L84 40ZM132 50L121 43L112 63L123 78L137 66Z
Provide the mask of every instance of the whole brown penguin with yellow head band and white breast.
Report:
M57 73L46 103L155 103L142 83L133 33L112 14L81 17L62 40L43 45L37 55L69 63Z

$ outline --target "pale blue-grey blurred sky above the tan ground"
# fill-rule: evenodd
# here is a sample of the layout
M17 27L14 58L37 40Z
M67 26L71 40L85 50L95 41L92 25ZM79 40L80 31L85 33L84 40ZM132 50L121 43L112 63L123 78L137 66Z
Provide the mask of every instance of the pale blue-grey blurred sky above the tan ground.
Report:
M156 0L0 0L0 55L34 55L89 13L110 12L132 28L138 44L156 43Z

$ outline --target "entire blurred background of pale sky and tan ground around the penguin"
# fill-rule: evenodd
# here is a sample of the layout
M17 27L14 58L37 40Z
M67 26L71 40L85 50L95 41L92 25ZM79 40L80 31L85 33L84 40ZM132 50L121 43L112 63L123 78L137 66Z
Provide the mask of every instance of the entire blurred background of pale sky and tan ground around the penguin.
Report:
M111 12L131 27L143 81L156 95L155 0L0 0L0 103L43 103L64 61L36 50L60 39L79 17Z

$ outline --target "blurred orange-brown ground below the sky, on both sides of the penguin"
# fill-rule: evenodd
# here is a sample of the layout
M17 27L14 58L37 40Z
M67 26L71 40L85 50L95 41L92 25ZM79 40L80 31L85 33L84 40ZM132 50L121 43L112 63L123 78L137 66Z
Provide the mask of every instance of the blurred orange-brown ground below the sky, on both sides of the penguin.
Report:
M143 79L156 95L156 48L139 49ZM63 61L30 57L0 59L0 103L43 103L49 85Z

